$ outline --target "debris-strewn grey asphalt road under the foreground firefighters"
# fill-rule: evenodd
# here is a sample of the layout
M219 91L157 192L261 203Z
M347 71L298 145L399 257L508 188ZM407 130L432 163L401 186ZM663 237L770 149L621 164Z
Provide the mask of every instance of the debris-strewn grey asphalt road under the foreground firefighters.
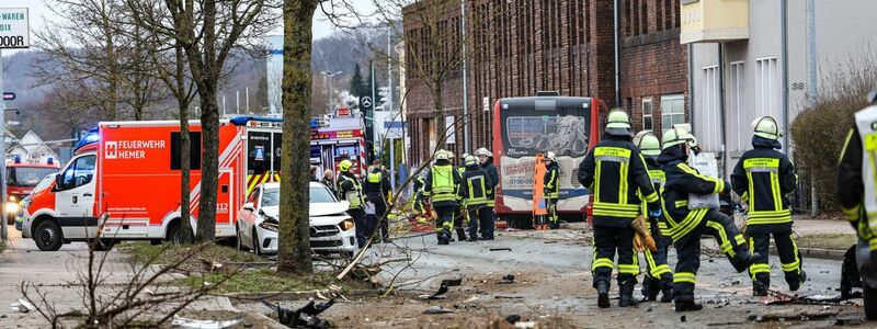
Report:
M561 319L561 324L570 324L572 327L600 328L610 324L618 325L619 328L646 325L775 327L781 322L778 319L772 320L773 317L783 317L783 326L819 328L833 325L839 318L854 321L863 318L861 299L830 306L763 305L758 297L751 296L751 281L745 272L736 273L724 257L706 254L702 257L696 287L696 298L705 305L704 310L677 314L672 309L672 304L660 303L645 303L636 308L617 308L617 300L612 302L613 307L610 309L599 309L596 294L591 287L590 263L593 247L583 236L573 230L498 234L494 241L452 242L449 246L437 246L433 236L406 238L396 240L395 245L378 245L369 261L410 254L413 262L389 263L380 273L385 283L394 282L401 290L428 293L435 291L441 280L463 279L463 285L452 287L446 299L418 300L409 306L420 310L442 306L457 309L455 314L467 317L520 315L524 319L537 320L556 317ZM711 241L704 239L704 245L709 246ZM670 258L672 268L675 263L675 252L672 250ZM645 259L640 259L642 264ZM776 257L771 258L771 265L772 288L789 293ZM840 284L840 261L805 259L804 266L808 280L797 292L798 295L839 295L835 288ZM516 283L494 284L494 281L505 274L514 274ZM616 283L612 284L612 294L617 298ZM637 297L640 297L639 287L640 285L637 286ZM462 305L467 304L471 304L471 307L460 310ZM421 308L412 305L420 305ZM448 315L423 316L407 313L394 316L414 317L421 321L423 317L428 317L430 321L454 321L454 317ZM759 322L758 319L764 322ZM356 322L355 318L350 320L353 322L345 325L366 325ZM369 319L369 322L374 321L374 318ZM405 327L400 322L394 322L394 319L385 319L379 324Z

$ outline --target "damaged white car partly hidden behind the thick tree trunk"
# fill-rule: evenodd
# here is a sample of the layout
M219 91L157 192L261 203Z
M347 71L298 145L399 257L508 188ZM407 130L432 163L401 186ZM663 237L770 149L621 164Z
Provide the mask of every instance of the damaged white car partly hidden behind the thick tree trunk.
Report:
M346 201L338 201L326 185L310 182L310 248L319 254L356 253L356 227L345 212ZM280 227L280 183L257 185L238 213L238 249L257 254L277 252Z

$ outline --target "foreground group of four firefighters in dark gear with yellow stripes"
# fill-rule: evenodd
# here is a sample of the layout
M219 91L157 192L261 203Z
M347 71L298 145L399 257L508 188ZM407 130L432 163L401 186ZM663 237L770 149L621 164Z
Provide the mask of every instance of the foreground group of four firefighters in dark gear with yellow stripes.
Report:
M753 128L753 149L742 155L729 183L688 166L688 157L697 155L699 148L685 129L663 132L661 143L651 132L634 136L625 112L610 113L606 137L588 154L578 177L593 193L595 250L591 270L599 307L610 307L610 279L616 253L618 306L638 303L633 296L640 270L634 223L641 215L648 217L657 247L645 250L645 300L657 300L662 294L660 300L674 302L676 311L703 308L694 299L703 235L716 238L721 253L738 273L749 270L754 296L765 296L770 287L767 248L773 236L789 290L800 287L806 274L791 237L786 196L797 185L795 168L777 151L783 133L773 117L758 118ZM733 219L717 208L690 206L690 197L727 194L731 190L749 212L744 232L748 239ZM675 271L668 265L671 245L676 249Z

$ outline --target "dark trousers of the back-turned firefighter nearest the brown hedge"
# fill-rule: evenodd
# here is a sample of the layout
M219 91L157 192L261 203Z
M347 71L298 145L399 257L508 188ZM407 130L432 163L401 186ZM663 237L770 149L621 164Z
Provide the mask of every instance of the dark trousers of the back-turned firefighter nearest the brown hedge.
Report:
M801 257L795 238L791 237L791 223L749 225L747 234L750 250L761 254L755 263L749 266L753 284L762 285L764 288L771 286L771 265L767 263L771 236L774 237L776 253L779 254L786 282L793 284L801 281Z

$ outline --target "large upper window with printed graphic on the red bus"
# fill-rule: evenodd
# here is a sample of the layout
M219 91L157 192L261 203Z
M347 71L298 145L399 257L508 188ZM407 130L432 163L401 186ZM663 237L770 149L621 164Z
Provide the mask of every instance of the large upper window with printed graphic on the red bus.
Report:
M588 151L589 99L516 99L504 105L501 122L505 155L554 151L582 157Z

